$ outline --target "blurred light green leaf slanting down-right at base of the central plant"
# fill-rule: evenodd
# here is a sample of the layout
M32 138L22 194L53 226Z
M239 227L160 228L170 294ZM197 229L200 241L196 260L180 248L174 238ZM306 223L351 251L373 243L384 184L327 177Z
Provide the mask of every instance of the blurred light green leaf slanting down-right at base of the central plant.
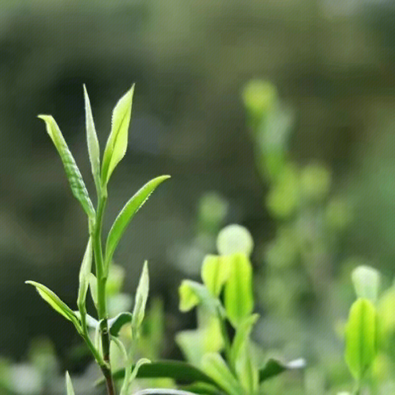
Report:
M218 353L209 353L201 359L202 370L229 395L243 395L236 377Z

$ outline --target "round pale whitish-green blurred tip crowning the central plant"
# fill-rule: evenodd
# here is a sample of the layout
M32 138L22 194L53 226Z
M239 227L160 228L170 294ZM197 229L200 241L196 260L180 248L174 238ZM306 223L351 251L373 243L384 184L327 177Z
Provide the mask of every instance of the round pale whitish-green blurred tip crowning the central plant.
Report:
M221 255L230 255L237 252L251 255L254 241L251 234L243 226L228 225L218 234L217 249Z

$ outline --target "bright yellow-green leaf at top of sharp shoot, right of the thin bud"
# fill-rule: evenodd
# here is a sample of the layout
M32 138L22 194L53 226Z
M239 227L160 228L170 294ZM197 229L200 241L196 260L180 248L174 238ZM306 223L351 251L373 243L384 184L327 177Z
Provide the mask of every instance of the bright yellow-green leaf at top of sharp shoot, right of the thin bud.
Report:
M126 153L133 91L134 85L119 99L114 108L111 132L103 155L102 184L108 183L111 173Z

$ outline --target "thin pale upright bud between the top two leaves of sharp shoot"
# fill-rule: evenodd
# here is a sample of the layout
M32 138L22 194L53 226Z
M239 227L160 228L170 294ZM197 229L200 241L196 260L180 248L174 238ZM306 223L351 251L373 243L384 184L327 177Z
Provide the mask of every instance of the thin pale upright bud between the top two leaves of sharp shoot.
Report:
M100 190L100 147L97 139L95 123L93 122L92 109L86 86L83 84L83 96L85 101L85 125L86 125L86 142L88 144L89 160L92 167L93 179L95 180L96 189Z

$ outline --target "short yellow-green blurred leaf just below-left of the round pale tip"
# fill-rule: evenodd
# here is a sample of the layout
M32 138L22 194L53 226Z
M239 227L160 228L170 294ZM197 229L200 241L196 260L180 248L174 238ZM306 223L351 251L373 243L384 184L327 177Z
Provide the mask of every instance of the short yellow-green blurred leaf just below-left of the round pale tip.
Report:
M227 257L207 255L201 266L201 278L207 289L219 296L222 286L230 275L230 265Z

